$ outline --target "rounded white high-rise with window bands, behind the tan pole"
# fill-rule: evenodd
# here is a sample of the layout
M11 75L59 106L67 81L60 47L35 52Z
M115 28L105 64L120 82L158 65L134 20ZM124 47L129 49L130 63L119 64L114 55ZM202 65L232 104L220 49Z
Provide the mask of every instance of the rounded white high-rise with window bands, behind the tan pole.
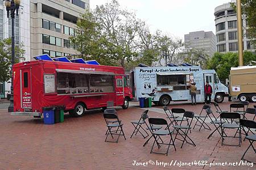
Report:
M229 3L217 6L214 10L217 51L218 52L238 52L237 36L237 14ZM245 17L243 17L245 18ZM255 44L252 44L246 36L246 20L242 20L243 27L243 49L255 51Z

